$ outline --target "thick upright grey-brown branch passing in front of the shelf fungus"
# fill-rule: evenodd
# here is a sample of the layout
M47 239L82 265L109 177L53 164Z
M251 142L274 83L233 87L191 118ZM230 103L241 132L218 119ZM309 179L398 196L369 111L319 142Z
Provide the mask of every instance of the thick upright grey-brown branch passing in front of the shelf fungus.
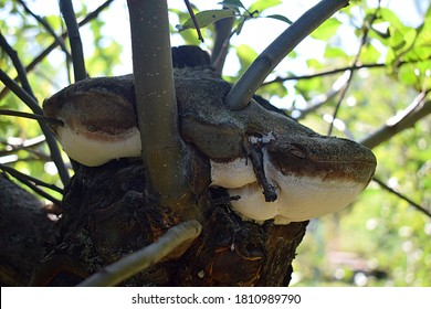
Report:
M165 203L183 195L188 187L185 145L178 131L168 7L166 0L128 0L127 4L143 161L150 192L160 194ZM170 202L167 204L174 204Z

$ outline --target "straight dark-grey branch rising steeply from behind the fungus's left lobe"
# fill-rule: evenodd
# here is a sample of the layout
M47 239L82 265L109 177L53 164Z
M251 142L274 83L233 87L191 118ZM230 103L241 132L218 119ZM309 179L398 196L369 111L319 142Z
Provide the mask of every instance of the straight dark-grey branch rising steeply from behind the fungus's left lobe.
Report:
M80 26L76 22L72 1L60 0L60 10L67 26L75 82L85 79L87 77L87 73L85 71L84 52L81 41Z

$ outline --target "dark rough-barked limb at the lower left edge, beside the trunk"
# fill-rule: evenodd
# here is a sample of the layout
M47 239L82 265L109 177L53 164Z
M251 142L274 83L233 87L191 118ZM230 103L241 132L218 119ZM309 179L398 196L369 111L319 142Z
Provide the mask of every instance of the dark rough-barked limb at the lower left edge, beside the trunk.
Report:
M55 234L42 203L0 173L0 286L29 285Z

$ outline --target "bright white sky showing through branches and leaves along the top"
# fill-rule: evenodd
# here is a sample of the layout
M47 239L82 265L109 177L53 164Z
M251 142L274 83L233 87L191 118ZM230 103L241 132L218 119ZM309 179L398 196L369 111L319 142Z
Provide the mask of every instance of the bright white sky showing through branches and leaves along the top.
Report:
M221 8L218 4L221 0L190 0L191 3L196 4L199 10L209 10L209 9L219 9ZM256 0L242 0L242 3L248 8L251 3ZM397 15L406 23L418 26L418 21L421 21L422 18L418 15L418 12L424 12L425 8L428 8L431 0L381 0L382 7L389 6L391 10L393 10ZM50 3L52 2L52 3ZM80 6L80 1L74 0L75 10ZM97 8L104 0L97 1L86 1L90 11ZM290 20L295 21L301 17L307 9L312 8L316 4L318 0L284 0L282 4L276 6L272 9L266 10L263 14L283 14L287 17ZM46 14L59 14L57 0L34 0L31 2L31 8L35 11L35 13L41 15ZM378 0L367 0L369 6L376 7ZM183 0L168 0L168 6L170 8L178 8L182 11L186 10ZM128 74L132 72L132 51L130 51L130 31L129 31L129 21L128 21L128 12L125 0L116 0L114 1L108 10L105 10L101 18L106 21L106 25L103 31L104 34L108 34L113 36L122 46L122 65L118 65L114 68L115 75ZM169 15L171 23L178 24L178 18L176 14L171 13ZM361 19L361 18L360 18ZM286 28L286 24L282 21L272 20L272 19L255 19L250 20L244 25L241 34L234 35L232 38L231 43L233 45L248 44L250 45L256 53L263 51L281 32L283 32ZM193 30L189 30L193 31ZM349 25L343 25L339 28L339 34L343 38L343 47L350 52L356 53L358 49L358 40L353 33L354 29ZM92 47L91 42L92 34L87 30L87 28L83 28L81 30L82 40L84 43L84 54L90 54L90 49ZM171 36L171 44L181 45L182 40L180 35L174 34ZM196 40L196 44L200 42L198 39ZM199 44L201 47L208 47L206 44ZM315 58L323 56L323 42L317 42L313 39L304 40L296 49L295 52L298 54L295 60L284 60L276 68L281 72L285 71L288 67L290 71L301 75L307 73L306 60ZM234 75L239 68L239 62L234 54L229 54L227 58L227 64L224 66L223 74L225 75ZM270 76L271 78L271 76ZM291 83L292 84L292 83ZM293 85L293 84L292 84ZM291 85L291 86L292 86ZM290 87L290 85L287 85ZM291 93L291 92L290 92ZM294 92L292 92L294 93ZM293 98L284 98L285 100L292 100ZM277 103L272 100L273 104L277 105Z

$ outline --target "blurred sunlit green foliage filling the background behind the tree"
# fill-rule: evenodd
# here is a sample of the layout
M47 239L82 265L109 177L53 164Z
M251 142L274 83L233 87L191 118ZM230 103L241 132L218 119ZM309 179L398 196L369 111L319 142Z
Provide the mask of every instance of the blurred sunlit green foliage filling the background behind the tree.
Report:
M28 1L29 4L38 1ZM91 10L87 1L74 1L78 19ZM192 1L199 11L199 1ZM216 1L217 2L217 1ZM220 9L220 6L212 9ZM227 4L240 1L224 1ZM254 1L248 12L259 10L252 18L236 18L234 35L241 35L241 26L248 22L261 22L259 17L277 12L283 1ZM250 2L250 1L249 1ZM383 2L383 1L382 1ZM382 126L397 113L408 108L422 90L431 88L431 6L430 1L404 1L403 6L416 6L416 17L401 17L391 7L378 7L378 1L353 1L335 17L325 22L308 42L323 46L323 56L305 58L306 71L302 75L332 71L354 65L364 68L353 71L348 89L340 102L334 122L334 135L360 140ZM241 3L241 2L240 2ZM32 6L29 6L32 8ZM236 10L244 13L244 8ZM270 10L271 9L271 10ZM109 10L109 8L107 9ZM267 10L267 11L266 11ZM175 25L189 19L186 7L170 8L176 17L172 21L172 36L180 36L185 44L198 44L195 30L177 32ZM122 12L127 19L127 11ZM41 13L60 35L64 23L59 10ZM118 12L119 15L119 12ZM414 24L411 25L411 19ZM107 33L106 26L115 20L97 18L82 29L85 33L86 67L91 76L112 75L120 64L123 46ZM287 26L287 23L286 23ZM21 62L28 65L40 52L53 42L53 38L15 1L0 0L0 30L10 45L18 52ZM208 50L214 41L213 24L202 29ZM256 33L257 35L264 35ZM67 42L66 42L67 43ZM67 45L67 44L66 44ZM351 49L351 45L357 49ZM230 55L238 60L235 74L224 76L234 82L257 56L250 44L233 44ZM359 54L359 56L358 56ZM288 64L302 57L291 53ZM33 92L41 103L45 97L70 83L70 64L57 47L44 57L28 74ZM376 67L367 67L371 64ZM0 50L0 67L11 77L15 70L7 54ZM311 108L318 95L327 94L341 81L344 72L324 76L298 75L291 65L281 65L274 76L280 82L269 83L259 89L265 98L283 103L286 113L297 115ZM290 77L291 81L283 82ZM272 81L272 79L271 79ZM338 90L339 92L339 90ZM428 94L430 104L430 95ZM339 94L323 100L322 105L301 118L301 121L316 131L327 134ZM29 109L13 94L0 100L0 108ZM295 114L296 113L296 114ZM328 120L329 119L329 120ZM20 142L41 135L33 120L0 116L0 160L21 172L61 187L61 182L46 164L50 159L48 147L38 143L32 148L13 150ZM419 120L414 127L406 128L374 149L378 158L376 175L390 188L431 210L431 119ZM57 193L50 192L55 196ZM318 220L313 220L294 263L294 286L431 286L431 219L417 211L397 195L371 182L369 188L346 210Z

